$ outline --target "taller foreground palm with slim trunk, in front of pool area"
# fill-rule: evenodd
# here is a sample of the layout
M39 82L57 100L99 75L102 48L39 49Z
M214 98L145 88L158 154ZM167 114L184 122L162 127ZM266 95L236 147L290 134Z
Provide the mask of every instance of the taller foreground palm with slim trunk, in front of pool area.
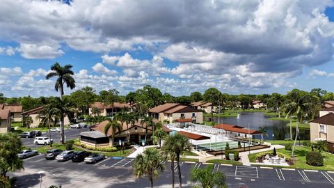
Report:
M179 176L179 187L182 187L180 154L184 151L190 150L189 139L183 136L182 134L175 134L173 136L168 136L166 138L165 143L167 143L166 146L165 144L163 146L163 150L165 151L165 153L168 153L170 156L175 156L177 164L177 173Z

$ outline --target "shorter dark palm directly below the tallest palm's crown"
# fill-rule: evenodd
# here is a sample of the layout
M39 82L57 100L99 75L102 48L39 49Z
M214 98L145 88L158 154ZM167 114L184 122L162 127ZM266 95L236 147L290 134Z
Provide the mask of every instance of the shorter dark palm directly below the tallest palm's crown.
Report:
M61 118L61 133L64 133L64 118L72 118L72 104L67 98L61 100L60 97L55 97L52 106L56 109L56 115ZM65 143L65 134L61 134L61 143Z

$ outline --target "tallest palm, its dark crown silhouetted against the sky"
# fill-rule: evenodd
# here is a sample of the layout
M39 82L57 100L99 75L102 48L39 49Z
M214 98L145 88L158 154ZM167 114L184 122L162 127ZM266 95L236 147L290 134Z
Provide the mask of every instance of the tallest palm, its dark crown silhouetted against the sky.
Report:
M51 72L45 76L46 79L52 77L57 77L56 84L54 85L55 90L61 93L61 100L63 100L64 95L64 84L67 88L75 88L75 80L72 77L74 72L71 70L72 65L61 66L58 62L51 66ZM65 134L64 134L64 118L61 118L61 143L64 143Z

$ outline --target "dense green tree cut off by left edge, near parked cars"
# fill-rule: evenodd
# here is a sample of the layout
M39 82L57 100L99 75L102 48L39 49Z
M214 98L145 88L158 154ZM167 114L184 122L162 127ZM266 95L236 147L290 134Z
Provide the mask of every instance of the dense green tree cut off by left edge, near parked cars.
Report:
M18 134L0 134L0 178L6 179L9 171L23 169L23 161L19 159L17 153L21 151L22 141Z

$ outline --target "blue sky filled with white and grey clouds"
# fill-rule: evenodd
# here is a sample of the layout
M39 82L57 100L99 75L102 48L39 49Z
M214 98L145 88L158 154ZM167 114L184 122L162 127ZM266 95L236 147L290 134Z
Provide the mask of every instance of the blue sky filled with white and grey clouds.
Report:
M80 89L145 85L171 95L334 91L333 0L2 0L0 93L58 95L45 75L71 64ZM70 94L68 89L66 94Z

